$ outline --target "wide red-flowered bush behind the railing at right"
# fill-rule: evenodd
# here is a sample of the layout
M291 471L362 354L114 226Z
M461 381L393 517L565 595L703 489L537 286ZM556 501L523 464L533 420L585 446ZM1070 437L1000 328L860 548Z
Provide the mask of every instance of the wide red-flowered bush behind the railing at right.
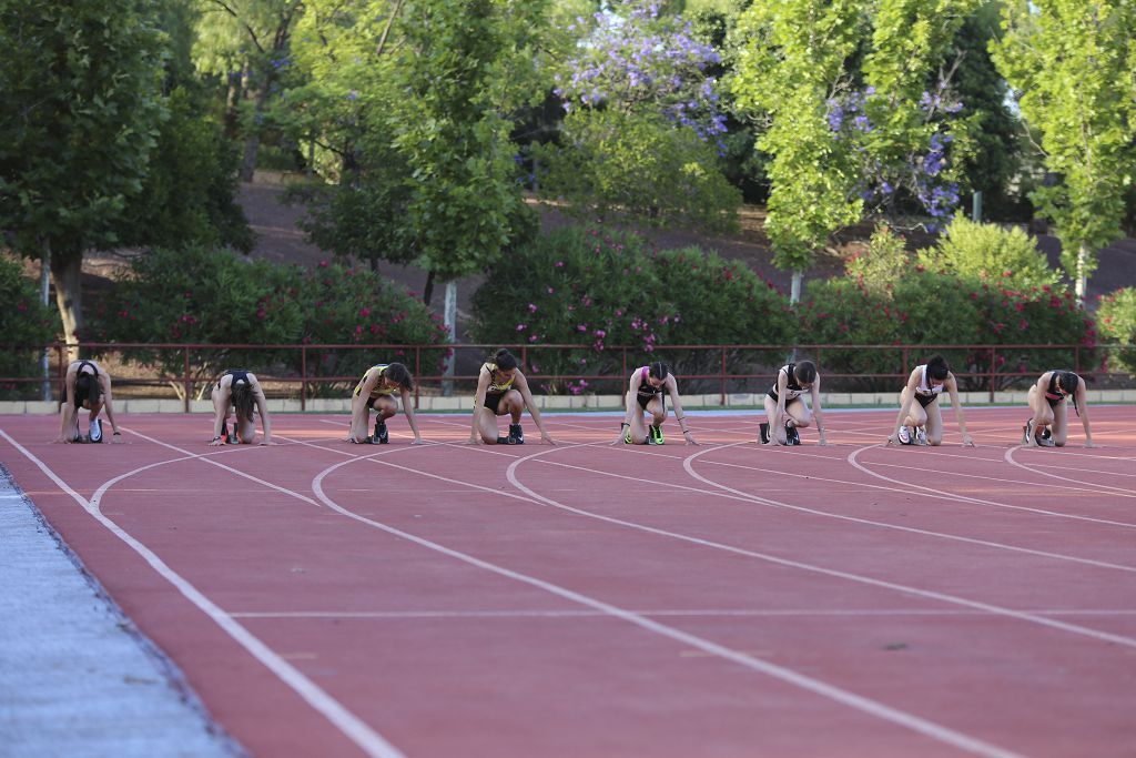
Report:
M894 345L997 345L1071 344L1079 350L1080 364L1093 359L1095 325L1077 306L1072 294L1049 285L1028 291L1010 289L1001 282L979 282L921 266L897 283L883 290L860 278L815 281L800 306L800 322L810 341L844 344ZM932 352L930 350L927 351ZM951 364L957 375L991 370L991 353L968 348L935 349ZM999 372L1020 372L1020 378L1002 377L1000 386L1028 381L1055 366L1074 366L1076 350L1029 348L1012 355L997 353ZM859 389L899 389L904 368L910 370L929 355L903 351L855 349L826 350L824 369L842 374ZM886 381L857 380L861 374L891 373ZM985 389L983 376L961 377L963 389ZM828 385L833 386L832 383Z

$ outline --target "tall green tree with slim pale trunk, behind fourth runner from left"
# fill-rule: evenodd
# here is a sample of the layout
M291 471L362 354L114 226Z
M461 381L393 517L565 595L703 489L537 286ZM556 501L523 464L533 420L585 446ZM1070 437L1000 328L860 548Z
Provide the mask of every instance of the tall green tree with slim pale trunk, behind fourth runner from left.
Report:
M386 123L409 169L403 224L433 277L484 270L529 228L509 142L516 58L540 25L534 0L409 0ZM452 332L451 332L452 336Z

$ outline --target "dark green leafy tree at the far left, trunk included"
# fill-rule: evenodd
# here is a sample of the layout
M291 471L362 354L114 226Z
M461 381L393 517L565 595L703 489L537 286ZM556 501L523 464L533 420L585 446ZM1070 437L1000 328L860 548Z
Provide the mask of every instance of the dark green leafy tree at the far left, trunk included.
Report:
M0 230L50 259L68 341L83 325L83 253L114 245L159 122L153 0L0 0Z

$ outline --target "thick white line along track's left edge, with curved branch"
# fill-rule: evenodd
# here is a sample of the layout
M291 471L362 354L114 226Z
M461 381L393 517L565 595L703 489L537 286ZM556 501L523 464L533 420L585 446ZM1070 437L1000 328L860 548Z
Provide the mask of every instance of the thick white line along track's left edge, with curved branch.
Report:
M126 430L132 434L137 436L144 436ZM150 464L142 466L126 474L116 476L115 478L106 482L95 492L91 500L87 500L78 492L73 490L66 482L64 482L59 476L56 475L50 467L47 466L42 460L40 460L34 453L24 448L14 440L7 432L0 430L0 435L3 435L5 440L8 441L10 445L16 448L19 452L24 455L25 458L35 464L41 472L43 472L56 485L69 494L75 502L83 507L87 514L91 515L99 524L105 526L111 534L117 536L119 540L125 542L132 550L134 550L139 556L142 557L147 564L158 573L159 576L165 578L178 592L185 597L186 600L192 602L198 607L203 614L206 614L215 624L217 624L222 630L225 631L233 640L240 644L242 648L249 651L257 660L259 660L266 668L276 674L277 677L284 684L290 686L296 694L303 698L312 708L323 714L336 728L339 728L343 734L354 742L368 756L376 756L377 758L402 758L402 752L400 752L394 745L387 742L378 732L374 731L366 723L360 720L357 716L344 708L337 700L332 698L327 692L320 689L316 683L306 677L299 672L294 666L284 660L278 653L272 650L268 645L261 642L257 636L254 636L247 628L241 626L229 614L226 614L219 606L217 606L212 600L210 600L203 592L198 590L190 581L184 578L181 574L170 568L166 563L157 556L150 548L136 540L126 530L122 528L110 518L107 518L100 510L98 501L101 500L102 495L107 490L112 486L116 482L119 482L128 476L133 476L139 472L143 472L156 466L162 466L165 464L175 463L178 460L186 460L191 458L198 458L204 460L206 463L212 463L206 455L210 453L193 453L187 450L179 450L173 448L173 445L166 445L178 450L179 452L186 453L183 458L175 458L173 460L165 460L157 464ZM144 438L149 439L149 438ZM223 466L223 468L227 468ZM274 488L278 489L278 488Z

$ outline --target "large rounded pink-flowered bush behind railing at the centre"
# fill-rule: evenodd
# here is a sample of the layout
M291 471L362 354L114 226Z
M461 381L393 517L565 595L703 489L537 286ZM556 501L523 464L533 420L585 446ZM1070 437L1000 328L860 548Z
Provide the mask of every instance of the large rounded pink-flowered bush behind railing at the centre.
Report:
M624 347L634 349L629 360L652 357L677 373L705 373L705 353L666 345L790 344L793 332L787 300L743 264L696 248L649 252L635 235L599 228L536 239L491 269L474 293L473 333L481 342L591 345L528 351L540 356L529 368L553 376L618 377ZM716 353L716 369L718 360ZM732 353L727 369L745 361ZM588 386L553 381L550 389Z

